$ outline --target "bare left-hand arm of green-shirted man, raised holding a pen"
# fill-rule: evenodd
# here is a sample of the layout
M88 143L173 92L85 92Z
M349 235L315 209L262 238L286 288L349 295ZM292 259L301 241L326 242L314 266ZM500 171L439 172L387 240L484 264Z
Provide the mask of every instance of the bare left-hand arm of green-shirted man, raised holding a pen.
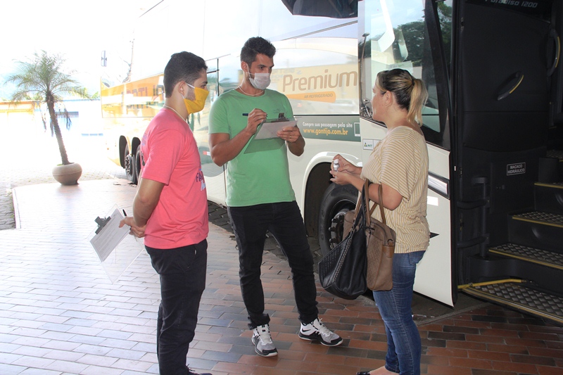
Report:
M229 160L236 158L236 155L239 155L248 140L256 132L258 125L266 120L266 116L266 113L259 109L254 109L251 113L248 113L248 124L233 138L228 133L209 134L209 148L213 163L222 166Z

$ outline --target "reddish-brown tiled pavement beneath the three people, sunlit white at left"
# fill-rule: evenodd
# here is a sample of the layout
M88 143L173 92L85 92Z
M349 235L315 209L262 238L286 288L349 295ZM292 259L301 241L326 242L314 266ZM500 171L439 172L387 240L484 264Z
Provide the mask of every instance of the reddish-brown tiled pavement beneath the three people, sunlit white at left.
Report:
M116 284L88 236L118 203L123 180L15 189L20 227L0 231L0 374L156 374L158 277L141 253ZM344 339L301 341L286 262L265 253L262 281L278 357L254 354L231 234L210 225L207 289L188 362L226 374L348 374L384 363L384 327L368 298L334 299L317 285L323 322ZM419 326L423 374L563 374L563 328L492 305Z

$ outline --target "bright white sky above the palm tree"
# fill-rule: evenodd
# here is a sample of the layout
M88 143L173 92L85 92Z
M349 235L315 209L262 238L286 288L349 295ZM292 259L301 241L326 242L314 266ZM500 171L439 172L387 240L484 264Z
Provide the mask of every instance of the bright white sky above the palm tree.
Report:
M101 51L131 39L134 21L160 0L0 0L0 100L13 85L15 61L34 52L60 53L88 91L99 91Z

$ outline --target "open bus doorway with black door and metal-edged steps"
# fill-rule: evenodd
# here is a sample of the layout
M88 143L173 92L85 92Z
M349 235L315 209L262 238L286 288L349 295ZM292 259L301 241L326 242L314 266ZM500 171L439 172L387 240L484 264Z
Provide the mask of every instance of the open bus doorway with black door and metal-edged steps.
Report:
M457 1L453 245L469 294L563 323L560 1ZM557 75L554 73L557 71ZM560 134L560 132L559 132ZM558 149L557 149L558 148ZM552 167L556 165L556 167Z

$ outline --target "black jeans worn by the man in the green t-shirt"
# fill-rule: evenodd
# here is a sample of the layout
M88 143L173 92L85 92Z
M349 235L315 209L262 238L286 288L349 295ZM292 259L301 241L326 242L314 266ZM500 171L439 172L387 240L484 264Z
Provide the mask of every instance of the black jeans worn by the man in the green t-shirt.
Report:
M274 236L289 261L299 319L305 324L317 319L319 311L312 254L297 203L229 207L227 212L239 246L239 276L242 298L248 311L248 327L254 329L270 322L270 316L264 314L264 291L260 281L266 231Z

